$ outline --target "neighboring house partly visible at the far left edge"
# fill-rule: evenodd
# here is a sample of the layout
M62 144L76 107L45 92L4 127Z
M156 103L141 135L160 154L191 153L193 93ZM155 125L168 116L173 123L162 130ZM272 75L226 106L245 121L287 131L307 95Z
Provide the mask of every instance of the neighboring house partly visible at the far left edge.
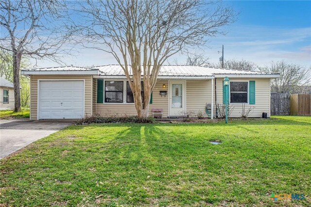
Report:
M0 77L0 110L14 110L13 83Z

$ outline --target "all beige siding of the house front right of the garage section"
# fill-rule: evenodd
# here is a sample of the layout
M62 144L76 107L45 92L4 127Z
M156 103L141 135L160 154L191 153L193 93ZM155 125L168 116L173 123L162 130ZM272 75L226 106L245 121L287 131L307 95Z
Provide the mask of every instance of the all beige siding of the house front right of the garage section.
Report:
M250 79L233 79L232 81L248 81ZM256 81L255 87L255 99L256 104L246 104L246 109L249 107L255 107L249 117L261 117L262 112L267 112L270 116L270 85L269 79L251 79ZM214 83L215 80L213 80ZM217 79L217 103L223 103L223 79ZM166 84L167 88L163 89L162 85ZM215 84L213 84L213 108L214 115L216 111L215 106ZM149 114L152 115L151 109L160 108L163 109L163 117L168 116L168 97L161 97L159 95L160 90L169 90L168 81L160 80L157 82L154 92L153 92L153 104L150 105ZM201 111L202 114L207 117L205 112L205 107L207 103L211 103L211 80L187 80L186 81L186 108L187 113L190 116L196 117L198 112ZM93 96L94 97L94 96ZM95 97L96 100L96 97ZM241 117L242 104L231 104L233 111L231 117ZM124 115L136 115L136 109L134 104L112 104L112 103L103 103L96 104L95 112L99 113L102 116L124 116ZM93 113L95 113L93 111Z

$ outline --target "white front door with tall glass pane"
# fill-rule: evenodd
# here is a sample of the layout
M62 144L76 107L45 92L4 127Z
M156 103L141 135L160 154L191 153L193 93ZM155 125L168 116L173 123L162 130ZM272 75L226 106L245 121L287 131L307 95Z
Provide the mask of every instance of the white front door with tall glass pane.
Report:
M185 116L186 112L186 82L170 81L169 88L170 116Z

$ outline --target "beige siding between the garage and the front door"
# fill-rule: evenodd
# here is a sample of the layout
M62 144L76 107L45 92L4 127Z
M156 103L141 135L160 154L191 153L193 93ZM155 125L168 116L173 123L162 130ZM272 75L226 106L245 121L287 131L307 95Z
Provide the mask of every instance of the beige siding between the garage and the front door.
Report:
M162 86L165 84L166 89ZM163 117L168 116L168 96L160 96L159 91L168 90L168 81L159 80L153 90L153 103L149 105L149 115L152 109L163 109ZM134 103L96 103L95 113L102 116L132 116L137 115Z

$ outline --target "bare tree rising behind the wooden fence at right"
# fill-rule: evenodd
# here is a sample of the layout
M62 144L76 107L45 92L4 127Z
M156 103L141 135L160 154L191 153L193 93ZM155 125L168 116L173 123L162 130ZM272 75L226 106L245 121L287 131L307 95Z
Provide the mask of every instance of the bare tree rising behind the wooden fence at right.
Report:
M274 93L299 93L311 83L311 67L280 61L260 70L280 74L280 78L271 81L271 92Z

